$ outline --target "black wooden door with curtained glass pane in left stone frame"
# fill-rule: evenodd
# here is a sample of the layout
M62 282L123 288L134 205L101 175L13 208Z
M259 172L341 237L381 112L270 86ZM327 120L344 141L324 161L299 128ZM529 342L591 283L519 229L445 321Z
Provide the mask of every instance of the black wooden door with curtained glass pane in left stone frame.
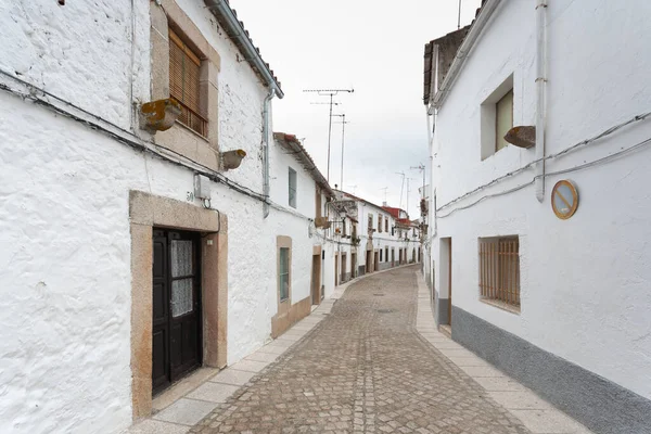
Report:
M152 387L157 393L201 366L199 237L154 230Z

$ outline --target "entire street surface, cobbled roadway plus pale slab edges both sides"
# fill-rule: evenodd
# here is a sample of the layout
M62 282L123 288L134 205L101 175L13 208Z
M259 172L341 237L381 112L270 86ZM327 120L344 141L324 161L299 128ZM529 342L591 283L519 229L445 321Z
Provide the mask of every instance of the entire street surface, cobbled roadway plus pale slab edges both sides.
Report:
M589 433L438 333L418 267L336 296L130 432Z

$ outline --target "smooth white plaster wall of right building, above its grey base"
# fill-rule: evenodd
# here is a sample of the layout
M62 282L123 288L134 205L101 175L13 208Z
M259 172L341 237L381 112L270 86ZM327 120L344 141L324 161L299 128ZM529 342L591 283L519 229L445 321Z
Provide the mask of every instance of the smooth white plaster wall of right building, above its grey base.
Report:
M439 207L534 158L533 150L508 146L482 162L478 128L480 104L509 74L514 74L515 125L534 123L534 8L533 1L502 2L438 111L433 184ZM550 154L649 110L651 5L552 1L548 13ZM547 169L595 161L649 137L647 120L553 159ZM444 208L437 226L439 238L452 238L452 304L651 398L651 233L644 220L651 212L650 158L643 149L550 177L542 204L527 187L443 218L485 194L531 181L528 170ZM580 193L578 212L566 221L550 206L559 179L572 179ZM478 302L477 238L509 234L520 235L519 316ZM438 239L432 256L439 257ZM437 270L438 288L443 271Z

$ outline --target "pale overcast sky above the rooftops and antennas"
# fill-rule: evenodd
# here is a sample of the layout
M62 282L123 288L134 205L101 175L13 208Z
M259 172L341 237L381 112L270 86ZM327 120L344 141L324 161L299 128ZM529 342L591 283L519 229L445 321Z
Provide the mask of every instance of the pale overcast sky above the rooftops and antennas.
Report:
M481 0L462 0L461 25ZM273 130L296 135L327 176L327 97L304 89L349 89L333 113L346 114L344 190L379 205L400 202L401 176L411 178L409 214L418 210L429 166L422 103L424 44L457 29L458 0L230 0L263 59L282 84L273 100ZM340 122L341 118L333 118ZM340 183L342 125L333 124L330 183ZM427 181L429 183L429 181ZM354 187L356 186L356 187ZM407 204L404 188L403 207Z

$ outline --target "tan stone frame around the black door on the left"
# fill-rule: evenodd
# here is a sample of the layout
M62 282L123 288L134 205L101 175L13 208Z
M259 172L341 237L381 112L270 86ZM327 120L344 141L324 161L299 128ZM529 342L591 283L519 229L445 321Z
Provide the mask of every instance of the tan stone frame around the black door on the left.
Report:
M129 192L131 232L131 404L132 418L152 412L153 230L201 232L203 366L227 365L228 218L142 191Z

